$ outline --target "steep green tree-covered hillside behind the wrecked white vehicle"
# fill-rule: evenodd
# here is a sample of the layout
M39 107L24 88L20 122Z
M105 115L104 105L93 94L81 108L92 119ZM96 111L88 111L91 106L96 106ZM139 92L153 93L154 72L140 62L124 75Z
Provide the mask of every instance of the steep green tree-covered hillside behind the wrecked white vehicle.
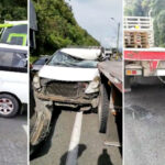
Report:
M64 0L33 0L38 32L37 50L33 55L52 54L68 45L99 45L87 31L76 22L72 8Z

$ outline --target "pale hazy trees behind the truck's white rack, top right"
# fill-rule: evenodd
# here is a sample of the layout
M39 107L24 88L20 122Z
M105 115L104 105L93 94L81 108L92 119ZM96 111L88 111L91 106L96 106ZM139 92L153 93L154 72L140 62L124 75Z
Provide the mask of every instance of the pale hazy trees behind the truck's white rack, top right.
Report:
M165 47L165 0L125 0L125 15L154 19L155 46Z

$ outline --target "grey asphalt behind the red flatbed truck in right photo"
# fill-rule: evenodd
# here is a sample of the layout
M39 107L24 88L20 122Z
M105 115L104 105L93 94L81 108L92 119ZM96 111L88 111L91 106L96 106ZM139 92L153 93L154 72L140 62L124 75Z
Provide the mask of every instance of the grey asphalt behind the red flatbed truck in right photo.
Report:
M143 80L124 100L124 164L165 164L165 86Z

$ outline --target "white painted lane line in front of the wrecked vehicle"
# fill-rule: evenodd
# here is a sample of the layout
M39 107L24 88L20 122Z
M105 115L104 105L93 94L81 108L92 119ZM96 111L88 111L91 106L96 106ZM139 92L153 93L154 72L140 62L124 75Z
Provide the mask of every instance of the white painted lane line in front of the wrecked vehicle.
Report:
M72 133L66 165L77 165L78 144L80 140L82 112L77 112Z

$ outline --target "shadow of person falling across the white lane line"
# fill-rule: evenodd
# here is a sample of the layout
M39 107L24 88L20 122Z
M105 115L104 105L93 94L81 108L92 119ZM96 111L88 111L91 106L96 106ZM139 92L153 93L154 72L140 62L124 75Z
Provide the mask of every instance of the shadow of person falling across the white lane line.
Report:
M73 151L70 152L76 152L76 150L78 150L78 155L77 155L77 160L82 155L84 151L87 148L87 146L85 144L79 144L77 145L76 148L74 148ZM70 152L66 152L62 157L61 157L61 164L59 165L66 165L66 158L67 158L67 155L70 153ZM76 157L75 160L73 160L76 162Z

